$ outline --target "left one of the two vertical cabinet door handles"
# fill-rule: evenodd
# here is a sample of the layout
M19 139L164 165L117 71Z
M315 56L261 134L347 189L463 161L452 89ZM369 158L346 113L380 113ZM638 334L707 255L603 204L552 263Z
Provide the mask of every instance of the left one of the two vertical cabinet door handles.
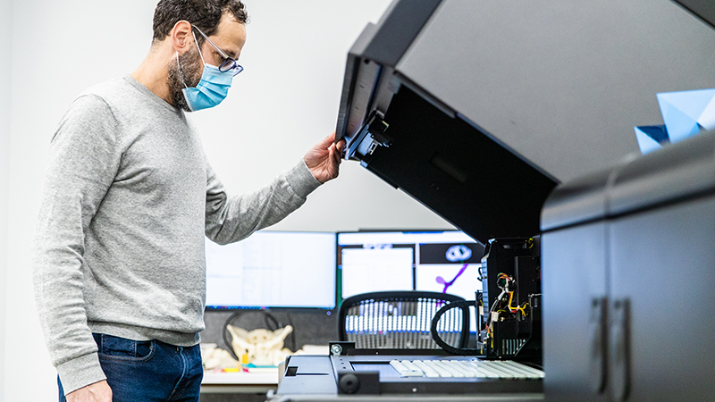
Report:
M591 316L589 318L589 336L591 346L591 359L589 370L591 372L592 389L596 393L603 393L606 389L607 367L607 333L606 297L594 297L591 301Z

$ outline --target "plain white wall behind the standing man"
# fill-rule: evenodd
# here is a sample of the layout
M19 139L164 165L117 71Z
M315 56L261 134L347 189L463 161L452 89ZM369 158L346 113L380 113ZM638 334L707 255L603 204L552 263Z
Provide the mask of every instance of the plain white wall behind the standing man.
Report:
M29 267L49 139L80 91L139 65L149 48L156 1L3 1L0 289L6 297L0 297L0 402L55 400L55 370L40 333ZM246 71L222 105L192 116L214 169L232 192L264 185L335 129L349 46L389 0L246 3L251 22L240 60ZM350 162L342 163L338 180L318 188L275 228L451 226Z

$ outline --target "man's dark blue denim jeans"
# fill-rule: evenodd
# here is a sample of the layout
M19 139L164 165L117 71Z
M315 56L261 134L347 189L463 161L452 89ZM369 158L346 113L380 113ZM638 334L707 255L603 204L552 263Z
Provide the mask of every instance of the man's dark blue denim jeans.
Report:
M198 345L181 348L158 340L93 334L114 402L198 402L204 369ZM62 382L60 402L66 402Z

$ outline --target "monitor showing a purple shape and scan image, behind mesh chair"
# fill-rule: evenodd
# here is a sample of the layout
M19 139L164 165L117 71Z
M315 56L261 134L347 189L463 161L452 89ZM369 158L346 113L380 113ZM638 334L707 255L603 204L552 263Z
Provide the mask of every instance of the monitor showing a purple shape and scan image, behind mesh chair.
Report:
M338 294L430 290L474 300L484 245L462 231L338 233Z

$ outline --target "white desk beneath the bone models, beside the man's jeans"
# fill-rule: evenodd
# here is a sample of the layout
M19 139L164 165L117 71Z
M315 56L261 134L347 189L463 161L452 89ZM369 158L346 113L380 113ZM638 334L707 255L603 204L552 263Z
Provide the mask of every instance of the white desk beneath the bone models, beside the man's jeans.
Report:
M278 385L278 369L257 369L254 373L205 372L201 381L201 401L231 400L215 394L232 394L240 400L265 400L265 394ZM228 397L228 395L225 395ZM249 397L249 398L247 398Z

